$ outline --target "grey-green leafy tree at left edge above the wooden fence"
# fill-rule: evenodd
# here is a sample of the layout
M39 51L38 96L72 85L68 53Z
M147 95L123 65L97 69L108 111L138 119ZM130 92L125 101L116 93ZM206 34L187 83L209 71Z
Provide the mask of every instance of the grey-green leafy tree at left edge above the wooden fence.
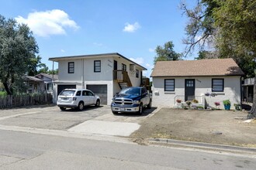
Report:
M0 15L0 80L6 93L19 90L22 76L29 71L38 46L29 27Z

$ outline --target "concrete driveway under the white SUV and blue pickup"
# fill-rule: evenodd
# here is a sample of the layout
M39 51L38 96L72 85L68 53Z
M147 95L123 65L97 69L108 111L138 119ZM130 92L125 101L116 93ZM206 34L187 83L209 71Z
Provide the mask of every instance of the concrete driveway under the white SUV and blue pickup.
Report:
M140 128L140 121L149 117L154 109L144 110L142 116L135 114L113 115L109 106L85 107L85 110L64 110L48 107L24 107L0 110L0 129L33 128L70 131L80 134L103 134L129 136Z

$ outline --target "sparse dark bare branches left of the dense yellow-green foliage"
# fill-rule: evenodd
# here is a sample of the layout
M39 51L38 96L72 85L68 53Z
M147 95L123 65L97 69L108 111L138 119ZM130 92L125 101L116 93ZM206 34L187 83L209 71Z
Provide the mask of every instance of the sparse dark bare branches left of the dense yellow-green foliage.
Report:
M185 26L186 38L183 43L186 45L185 55L188 56L195 50L206 50L210 46L214 46L216 28L213 25L213 9L219 5L213 0L198 0L195 8L189 9L185 3L181 8L183 15L189 18L187 26Z

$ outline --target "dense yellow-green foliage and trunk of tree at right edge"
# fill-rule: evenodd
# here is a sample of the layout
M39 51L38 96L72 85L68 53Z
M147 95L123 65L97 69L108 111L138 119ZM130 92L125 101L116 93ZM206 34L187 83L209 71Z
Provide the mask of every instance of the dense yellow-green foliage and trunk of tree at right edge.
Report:
M219 28L217 48L224 55L252 63L256 59L256 1L216 0L220 8L213 12L214 25ZM256 69L254 65L254 70ZM255 75L254 75L255 76ZM254 101L249 117L256 117L256 77Z

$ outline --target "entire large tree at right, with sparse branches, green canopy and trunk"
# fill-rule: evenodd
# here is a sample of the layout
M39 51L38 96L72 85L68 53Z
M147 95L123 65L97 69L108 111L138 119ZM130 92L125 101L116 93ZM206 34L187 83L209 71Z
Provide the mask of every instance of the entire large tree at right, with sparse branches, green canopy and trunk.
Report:
M220 58L232 57L247 76L254 76L256 59L256 1L255 0L201 0L194 9L185 4L182 9L189 17L186 26L187 50L214 40ZM196 37L200 37L196 39ZM203 46L204 47L204 46ZM203 48L200 48L200 50ZM251 117L256 117L256 78Z

